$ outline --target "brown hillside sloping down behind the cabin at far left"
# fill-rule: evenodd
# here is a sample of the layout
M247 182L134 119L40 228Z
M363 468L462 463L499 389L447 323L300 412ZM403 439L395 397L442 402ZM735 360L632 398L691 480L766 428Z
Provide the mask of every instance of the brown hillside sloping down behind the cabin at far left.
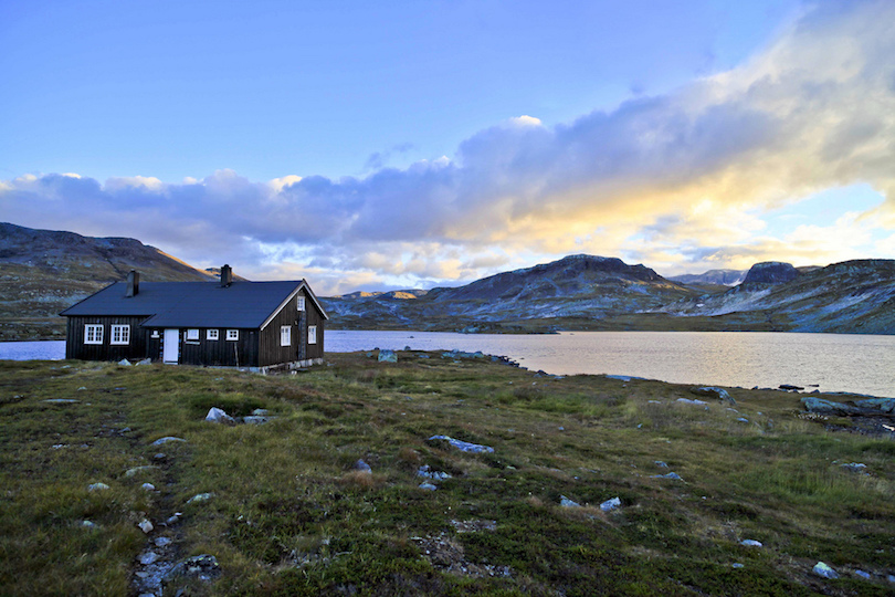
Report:
M135 239L0 223L0 341L63 337L59 312L130 270L149 282L214 279Z

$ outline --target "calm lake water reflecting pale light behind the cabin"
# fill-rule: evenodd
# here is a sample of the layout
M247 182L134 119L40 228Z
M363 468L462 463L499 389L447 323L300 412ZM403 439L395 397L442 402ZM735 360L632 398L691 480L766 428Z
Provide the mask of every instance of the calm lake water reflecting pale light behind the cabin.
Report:
M809 386L895 397L895 336L758 332L566 332L555 335L326 332L334 353L372 348L506 355L533 370L681 384ZM0 343L0 359L59 359L64 342Z

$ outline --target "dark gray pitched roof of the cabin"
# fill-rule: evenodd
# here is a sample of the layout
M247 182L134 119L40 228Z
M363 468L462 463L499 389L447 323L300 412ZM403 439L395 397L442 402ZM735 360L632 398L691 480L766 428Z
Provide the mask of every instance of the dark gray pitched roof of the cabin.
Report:
M304 280L288 282L143 282L126 297L126 282L116 282L63 311L61 315L149 317L144 327L261 327L283 303L304 287L310 303L327 317Z

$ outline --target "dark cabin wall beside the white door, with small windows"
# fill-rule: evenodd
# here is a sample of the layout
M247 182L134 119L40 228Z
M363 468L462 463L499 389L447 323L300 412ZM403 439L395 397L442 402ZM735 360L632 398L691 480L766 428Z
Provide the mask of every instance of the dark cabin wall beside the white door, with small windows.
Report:
M200 365L207 367L257 367L257 329L240 329L240 339L227 339L225 327L218 329L218 339L208 339L207 327L199 329L199 339L188 341L186 327L179 328L180 350L178 363L181 365ZM230 328L235 329L235 328ZM149 355L152 360L161 360L165 350L165 328L152 327L148 331Z

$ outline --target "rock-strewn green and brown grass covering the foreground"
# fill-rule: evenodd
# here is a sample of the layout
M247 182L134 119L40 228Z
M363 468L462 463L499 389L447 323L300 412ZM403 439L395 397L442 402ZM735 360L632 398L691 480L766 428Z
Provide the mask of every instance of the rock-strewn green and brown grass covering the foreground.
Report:
M893 589L891 440L802 420L785 392L730 388L733 412L675 404L693 397L687 386L421 356L330 355L309 373L267 377L0 362L0 594L134 593L137 557L157 536L178 559L218 559L214 580L175 582L192 595ZM45 401L57 398L78 401ZM212 406L273 418L204 422ZM187 441L151 444L166 436ZM358 459L372 473L354 470ZM451 478L420 489L423 464ZM126 474L146 465L157 468ZM668 471L683 481L655 476ZM88 491L97 482L109 489ZM621 509L599 509L615 496ZM149 537L144 517L156 525ZM812 575L818 561L840 579Z

